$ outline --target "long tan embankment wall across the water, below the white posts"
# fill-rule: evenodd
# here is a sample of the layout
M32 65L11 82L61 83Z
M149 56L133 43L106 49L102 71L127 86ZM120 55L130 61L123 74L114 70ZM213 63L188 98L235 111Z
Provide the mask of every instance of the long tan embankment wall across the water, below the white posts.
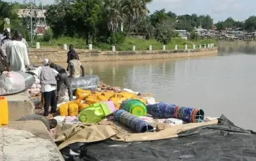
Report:
M148 50L148 51L126 51L111 52L101 50L76 50L81 61L111 61L111 60L148 60L148 59L170 59L177 57L197 57L204 55L217 55L218 48L201 48L189 50ZM45 58L52 62L66 62L67 50L54 48L40 48L29 50L31 63L41 63Z

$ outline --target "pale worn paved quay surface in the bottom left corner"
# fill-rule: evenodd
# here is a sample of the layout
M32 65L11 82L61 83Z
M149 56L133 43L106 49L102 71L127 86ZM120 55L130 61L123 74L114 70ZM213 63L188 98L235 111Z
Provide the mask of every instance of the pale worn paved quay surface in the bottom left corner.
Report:
M0 128L0 161L64 161L44 123L11 122Z

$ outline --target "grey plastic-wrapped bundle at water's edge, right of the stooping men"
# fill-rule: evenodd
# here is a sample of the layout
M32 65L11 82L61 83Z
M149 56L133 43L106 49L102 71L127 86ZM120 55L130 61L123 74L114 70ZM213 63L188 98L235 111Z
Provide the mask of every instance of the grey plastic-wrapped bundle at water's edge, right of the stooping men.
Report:
M99 83L100 83L99 76L96 76L96 75L80 76L79 78L72 78L71 88L72 90L76 90L76 88L97 90Z

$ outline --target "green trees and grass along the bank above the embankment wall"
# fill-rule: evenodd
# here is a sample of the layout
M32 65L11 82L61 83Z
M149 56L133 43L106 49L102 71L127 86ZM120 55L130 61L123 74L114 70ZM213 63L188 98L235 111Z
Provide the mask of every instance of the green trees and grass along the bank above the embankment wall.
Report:
M35 36L31 47L36 41L41 46L58 47L63 43L74 44L76 48L87 48L92 43L93 48L110 50L115 45L116 50L147 50L152 45L154 50L179 48L187 44L188 48L195 44L214 43L212 39L198 39L193 32L195 27L202 26L211 29L213 21L209 15L176 15L172 11L157 10L149 13L147 4L153 0L61 0L45 6L45 17L50 29L44 36ZM29 41L29 27L17 17L19 3L0 2L0 29L3 18L11 19L12 32L23 31ZM39 8L39 6L38 6ZM22 25L20 25L22 24ZM3 28L3 27L2 27ZM122 29L123 28L123 32ZM186 29L191 32L189 41L179 38L175 29ZM132 35L143 35L145 39L132 38Z

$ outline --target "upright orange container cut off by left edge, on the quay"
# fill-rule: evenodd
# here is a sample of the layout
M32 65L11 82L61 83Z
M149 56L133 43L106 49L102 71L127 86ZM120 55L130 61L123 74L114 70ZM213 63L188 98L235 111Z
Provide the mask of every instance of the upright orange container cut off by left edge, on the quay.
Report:
M0 120L2 125L9 124L9 110L6 97L0 97Z

